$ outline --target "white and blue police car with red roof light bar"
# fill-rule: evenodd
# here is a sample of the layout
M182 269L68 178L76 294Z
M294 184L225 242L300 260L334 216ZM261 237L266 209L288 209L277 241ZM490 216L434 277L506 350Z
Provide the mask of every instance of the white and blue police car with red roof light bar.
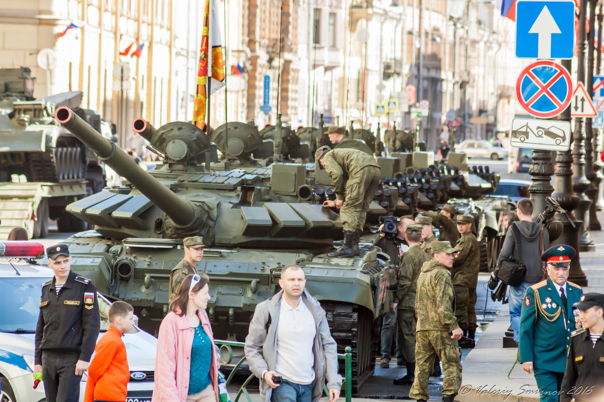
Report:
M0 242L0 402L39 402L45 399L43 383L33 388L34 338L42 283L53 278L53 271L19 259L35 258L43 253L40 243ZM97 296L101 316L100 339L109 327L111 302L101 294L97 293ZM127 402L150 402L157 339L137 325L122 339L130 367ZM80 383L80 401L84 399L85 388L86 374Z

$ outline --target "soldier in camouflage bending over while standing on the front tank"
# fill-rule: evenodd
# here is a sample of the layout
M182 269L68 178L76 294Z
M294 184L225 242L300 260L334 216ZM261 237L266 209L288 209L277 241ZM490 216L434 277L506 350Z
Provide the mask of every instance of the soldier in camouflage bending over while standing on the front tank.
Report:
M329 257L353 257L360 254L359 239L369 205L379 184L381 170L371 155L357 149L333 149L321 146L315 152L315 163L332 178L336 201L324 207L340 209L344 227L344 244Z

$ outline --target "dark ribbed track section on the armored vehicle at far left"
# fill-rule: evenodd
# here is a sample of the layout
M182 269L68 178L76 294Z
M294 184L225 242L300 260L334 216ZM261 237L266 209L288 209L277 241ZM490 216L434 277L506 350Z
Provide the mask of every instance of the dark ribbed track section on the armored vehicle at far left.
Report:
M79 146L59 146L45 152L33 152L28 160L33 181L63 183L85 177L82 148Z

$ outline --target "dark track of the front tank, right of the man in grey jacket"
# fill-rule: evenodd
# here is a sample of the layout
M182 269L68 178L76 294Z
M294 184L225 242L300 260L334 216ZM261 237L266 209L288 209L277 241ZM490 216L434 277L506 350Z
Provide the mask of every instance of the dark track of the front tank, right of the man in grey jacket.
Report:
M321 302L338 353L352 348L352 392L356 393L373 375L376 363L379 325L364 307L331 301ZM339 360L339 373L344 378L344 362Z

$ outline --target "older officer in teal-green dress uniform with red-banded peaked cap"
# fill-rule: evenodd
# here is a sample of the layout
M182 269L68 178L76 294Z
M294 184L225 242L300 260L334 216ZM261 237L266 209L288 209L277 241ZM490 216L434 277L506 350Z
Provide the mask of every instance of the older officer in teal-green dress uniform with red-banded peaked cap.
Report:
M519 354L522 368L535 374L541 402L557 402L566 368L571 332L580 327L573 303L581 287L567 281L574 248L556 245L541 256L547 262L547 280L528 287L522 302Z

